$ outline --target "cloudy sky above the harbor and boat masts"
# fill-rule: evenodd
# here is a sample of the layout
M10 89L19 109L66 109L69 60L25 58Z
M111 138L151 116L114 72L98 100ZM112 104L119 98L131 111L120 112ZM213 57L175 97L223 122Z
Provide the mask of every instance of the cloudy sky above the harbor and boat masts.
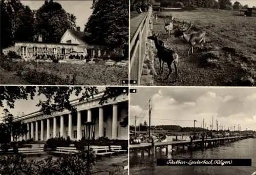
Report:
M152 125L180 125L206 128L214 118L227 129L256 130L256 88L137 88L130 95L130 125L148 123L148 100L152 100Z

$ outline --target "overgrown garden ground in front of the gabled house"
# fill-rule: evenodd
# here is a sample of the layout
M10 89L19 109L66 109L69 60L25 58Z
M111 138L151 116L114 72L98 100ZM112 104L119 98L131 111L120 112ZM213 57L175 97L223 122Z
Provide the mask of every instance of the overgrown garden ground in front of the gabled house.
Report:
M128 79L123 68L104 64L14 62L1 60L1 84L121 85Z

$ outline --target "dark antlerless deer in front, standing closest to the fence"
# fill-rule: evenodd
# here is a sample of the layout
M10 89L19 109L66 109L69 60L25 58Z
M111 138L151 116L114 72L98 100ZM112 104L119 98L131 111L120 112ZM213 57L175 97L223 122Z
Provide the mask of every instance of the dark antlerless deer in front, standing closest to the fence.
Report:
M178 76L178 59L179 59L179 55L177 54L177 52L167 49L164 47L164 42L162 40L160 40L158 38L159 34L153 34L152 36L148 36L148 39L151 39L154 41L156 49L157 49L157 56L159 59L159 63L160 63L160 72L159 74L161 75L161 73L163 73L163 65L164 62L167 63L167 67L169 69L169 73L166 76L166 78L164 78L164 80L167 80L169 78L170 73L172 73L172 68L170 67L172 64L174 64L175 67L175 71L176 71L176 78L175 78L175 82L177 81L177 76ZM161 67L161 61L162 61L162 67Z

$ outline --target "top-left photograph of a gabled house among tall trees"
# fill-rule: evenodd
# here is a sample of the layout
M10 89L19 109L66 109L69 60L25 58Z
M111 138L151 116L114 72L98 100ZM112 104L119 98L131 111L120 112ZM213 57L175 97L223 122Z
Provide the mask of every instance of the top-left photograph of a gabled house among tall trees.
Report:
M0 62L0 84L127 84L129 0L1 0Z

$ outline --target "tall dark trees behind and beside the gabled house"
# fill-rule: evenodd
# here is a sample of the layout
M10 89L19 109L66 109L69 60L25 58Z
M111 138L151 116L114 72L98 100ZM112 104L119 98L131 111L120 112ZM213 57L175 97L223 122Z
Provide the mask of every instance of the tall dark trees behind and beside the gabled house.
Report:
M93 14L84 29L91 36L84 39L113 48L127 44L129 3L125 0L94 0L92 9ZM67 29L76 28L76 16L53 0L45 0L38 10L31 10L20 0L1 0L1 12L1 54L2 49L15 40L32 42L41 34L44 42L58 43Z

